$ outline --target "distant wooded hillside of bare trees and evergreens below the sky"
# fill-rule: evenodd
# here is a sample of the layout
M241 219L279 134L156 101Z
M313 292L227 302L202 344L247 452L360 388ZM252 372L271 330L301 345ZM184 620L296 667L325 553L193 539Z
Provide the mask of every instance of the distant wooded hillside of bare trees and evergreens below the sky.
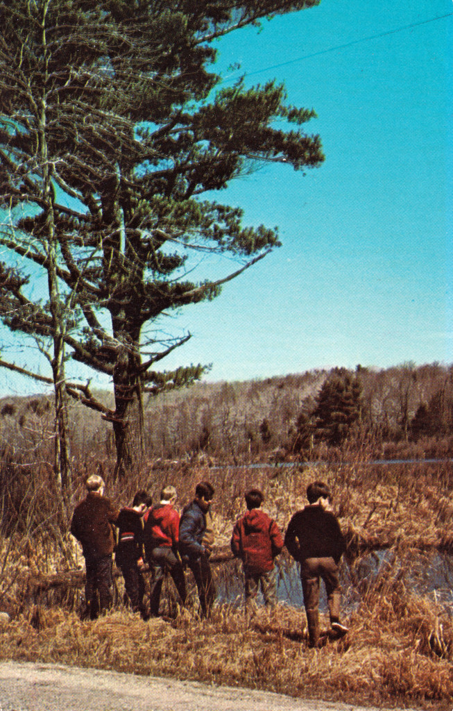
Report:
M108 394L98 394L108 403ZM234 383L197 383L145 402L146 459L263 461L363 456L452 456L453 365L357 365ZM52 398L0 401L9 456L39 457ZM113 456L111 424L70 405L72 456Z

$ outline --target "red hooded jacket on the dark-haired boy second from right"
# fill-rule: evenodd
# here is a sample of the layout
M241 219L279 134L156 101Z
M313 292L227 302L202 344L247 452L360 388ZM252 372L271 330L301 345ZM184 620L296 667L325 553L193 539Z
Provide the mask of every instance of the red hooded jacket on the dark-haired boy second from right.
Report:
M273 559L283 548L283 538L275 521L260 508L252 508L236 521L231 550L241 558L244 570L264 573L273 569Z

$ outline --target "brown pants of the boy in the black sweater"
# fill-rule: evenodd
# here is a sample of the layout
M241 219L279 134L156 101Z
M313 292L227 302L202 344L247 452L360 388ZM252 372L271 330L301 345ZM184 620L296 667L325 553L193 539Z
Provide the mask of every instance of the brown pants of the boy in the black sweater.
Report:
M330 623L339 621L340 587L339 569L332 557L306 558L300 563L300 579L307 614L310 646L316 646L320 638L320 578L324 580L329 606Z

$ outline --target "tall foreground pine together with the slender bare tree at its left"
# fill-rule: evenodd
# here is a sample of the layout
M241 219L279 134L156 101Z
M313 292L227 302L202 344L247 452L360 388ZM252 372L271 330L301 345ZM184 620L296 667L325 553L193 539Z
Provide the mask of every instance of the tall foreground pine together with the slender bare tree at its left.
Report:
M212 191L262 161L320 165L319 137L302 130L315 113L286 105L274 82L218 87L213 42L317 1L0 1L0 318L36 338L52 378L0 365L53 383L63 485L65 394L111 420L124 474L141 456L143 391L204 372L156 370L190 338L165 316L213 299L279 245ZM194 279L212 254L237 268ZM43 274L41 299L31 282ZM114 410L67 383L68 356L111 377Z

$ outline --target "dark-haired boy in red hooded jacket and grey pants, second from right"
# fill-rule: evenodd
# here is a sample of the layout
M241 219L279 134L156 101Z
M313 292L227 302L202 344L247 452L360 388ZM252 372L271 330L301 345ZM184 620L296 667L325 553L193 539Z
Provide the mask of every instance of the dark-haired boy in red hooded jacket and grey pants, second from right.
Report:
M283 548L278 525L261 510L264 496L259 489L245 495L247 513L236 521L231 538L231 550L241 558L246 578L246 614L256 609L256 595L261 583L267 607L277 603L273 560Z

